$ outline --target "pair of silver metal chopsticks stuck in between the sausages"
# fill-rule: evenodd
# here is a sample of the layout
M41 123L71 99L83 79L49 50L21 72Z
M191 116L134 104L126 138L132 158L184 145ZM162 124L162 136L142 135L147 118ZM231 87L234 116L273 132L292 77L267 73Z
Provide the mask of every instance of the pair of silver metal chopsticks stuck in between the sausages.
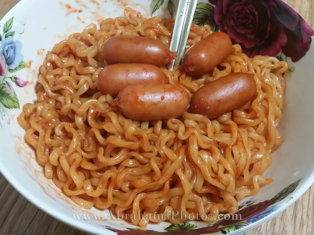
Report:
M168 70L172 70L175 65L181 63L184 50L187 44L190 27L192 24L197 0L180 0L176 14L176 21L170 43L170 50L178 52L178 58L167 65Z

